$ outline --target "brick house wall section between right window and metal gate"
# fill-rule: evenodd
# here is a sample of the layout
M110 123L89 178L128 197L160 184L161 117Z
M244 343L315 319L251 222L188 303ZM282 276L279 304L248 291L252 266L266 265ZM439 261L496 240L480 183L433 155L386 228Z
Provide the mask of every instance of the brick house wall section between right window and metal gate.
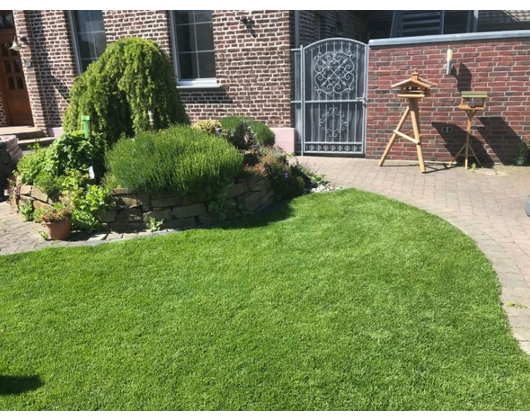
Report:
M250 115L272 127L291 125L291 11L214 10L220 90L181 93L192 120ZM251 17L253 33L240 22Z

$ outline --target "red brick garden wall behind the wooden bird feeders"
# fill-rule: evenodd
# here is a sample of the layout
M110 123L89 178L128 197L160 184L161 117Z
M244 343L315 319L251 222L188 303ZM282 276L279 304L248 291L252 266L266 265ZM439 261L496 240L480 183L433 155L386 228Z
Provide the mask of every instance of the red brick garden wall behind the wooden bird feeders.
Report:
M458 109L460 91L487 91L487 110L479 112L473 146L483 163L512 164L530 135L530 41L452 43L457 73L445 75L449 45L373 47L369 64L367 157L381 157L403 113L405 101L390 86L417 68L438 83L420 102L425 159L451 161L465 141L466 115ZM452 134L442 134L450 127ZM411 131L410 127L402 130ZM399 140L391 158L416 159L414 144Z

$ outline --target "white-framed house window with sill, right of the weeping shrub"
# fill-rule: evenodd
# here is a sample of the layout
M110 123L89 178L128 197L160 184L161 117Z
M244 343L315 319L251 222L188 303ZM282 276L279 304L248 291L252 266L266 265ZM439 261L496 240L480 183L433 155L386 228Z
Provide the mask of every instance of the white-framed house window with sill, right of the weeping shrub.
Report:
M175 10L173 20L180 85L215 85L212 11Z

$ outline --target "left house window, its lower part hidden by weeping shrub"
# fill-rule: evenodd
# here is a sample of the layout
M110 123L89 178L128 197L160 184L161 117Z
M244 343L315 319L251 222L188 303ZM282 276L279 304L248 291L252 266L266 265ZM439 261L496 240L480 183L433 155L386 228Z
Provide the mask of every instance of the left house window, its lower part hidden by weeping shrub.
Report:
M103 10L70 10L77 65L84 72L107 47Z

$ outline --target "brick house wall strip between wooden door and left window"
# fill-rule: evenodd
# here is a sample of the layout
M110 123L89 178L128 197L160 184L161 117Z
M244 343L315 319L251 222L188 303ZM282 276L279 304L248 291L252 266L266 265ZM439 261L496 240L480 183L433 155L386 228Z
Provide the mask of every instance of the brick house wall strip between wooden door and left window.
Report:
M24 69L37 127L59 127L66 98L77 74L65 10L15 10L17 33L27 35L30 48L21 51L31 67Z

